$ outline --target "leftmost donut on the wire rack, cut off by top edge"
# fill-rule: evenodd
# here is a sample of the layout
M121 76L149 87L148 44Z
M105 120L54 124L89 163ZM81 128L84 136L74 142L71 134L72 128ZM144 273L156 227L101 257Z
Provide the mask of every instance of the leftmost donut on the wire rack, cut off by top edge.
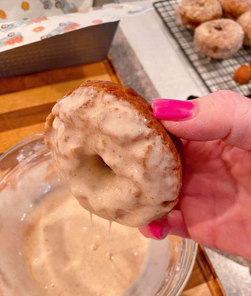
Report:
M218 0L182 0L175 11L177 22L192 30L202 22L216 20L221 15L222 7Z

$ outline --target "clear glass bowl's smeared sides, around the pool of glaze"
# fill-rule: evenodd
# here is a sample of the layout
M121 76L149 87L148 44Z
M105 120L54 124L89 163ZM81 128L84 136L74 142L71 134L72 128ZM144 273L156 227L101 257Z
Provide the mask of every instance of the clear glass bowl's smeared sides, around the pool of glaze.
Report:
M36 172L39 171L39 174ZM48 192L60 184L53 171L51 153L43 143L42 134L32 136L15 145L0 157L0 295L43 296L30 275L22 255L27 238L29 217ZM28 197L29 196L29 197ZM36 244L37 242L32 242ZM138 276L142 287L148 279L148 292L139 296L174 296L184 289L196 258L197 244L190 239L168 236L162 242L169 250L168 264L159 276ZM165 245L166 244L166 245ZM160 246L160 245L159 245ZM158 260L158 252L155 252ZM161 260L161 258L159 258ZM162 266L163 267L163 266ZM64 294L62 294L64 295ZM123 295L130 295L125 291ZM119 296L119 295L118 295Z

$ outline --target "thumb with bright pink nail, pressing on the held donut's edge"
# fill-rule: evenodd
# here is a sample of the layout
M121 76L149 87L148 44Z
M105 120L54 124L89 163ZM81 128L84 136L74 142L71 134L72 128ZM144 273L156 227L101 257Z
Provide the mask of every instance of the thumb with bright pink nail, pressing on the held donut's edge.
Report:
M174 136L190 141L222 139L251 150L251 100L221 90L191 101L156 99L153 115Z

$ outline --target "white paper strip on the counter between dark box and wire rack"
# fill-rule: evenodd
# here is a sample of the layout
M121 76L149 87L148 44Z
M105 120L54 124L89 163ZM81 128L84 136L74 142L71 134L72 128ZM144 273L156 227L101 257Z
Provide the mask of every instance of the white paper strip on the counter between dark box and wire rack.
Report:
M152 7L153 2L130 4ZM185 100L208 93L154 9L124 19L119 26L162 98Z

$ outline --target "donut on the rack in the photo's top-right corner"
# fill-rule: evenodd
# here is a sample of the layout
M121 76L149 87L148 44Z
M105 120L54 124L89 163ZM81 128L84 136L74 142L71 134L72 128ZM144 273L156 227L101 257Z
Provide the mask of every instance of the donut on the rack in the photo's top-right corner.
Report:
M219 0L223 9L224 17L236 19L242 13L251 10L251 0Z

